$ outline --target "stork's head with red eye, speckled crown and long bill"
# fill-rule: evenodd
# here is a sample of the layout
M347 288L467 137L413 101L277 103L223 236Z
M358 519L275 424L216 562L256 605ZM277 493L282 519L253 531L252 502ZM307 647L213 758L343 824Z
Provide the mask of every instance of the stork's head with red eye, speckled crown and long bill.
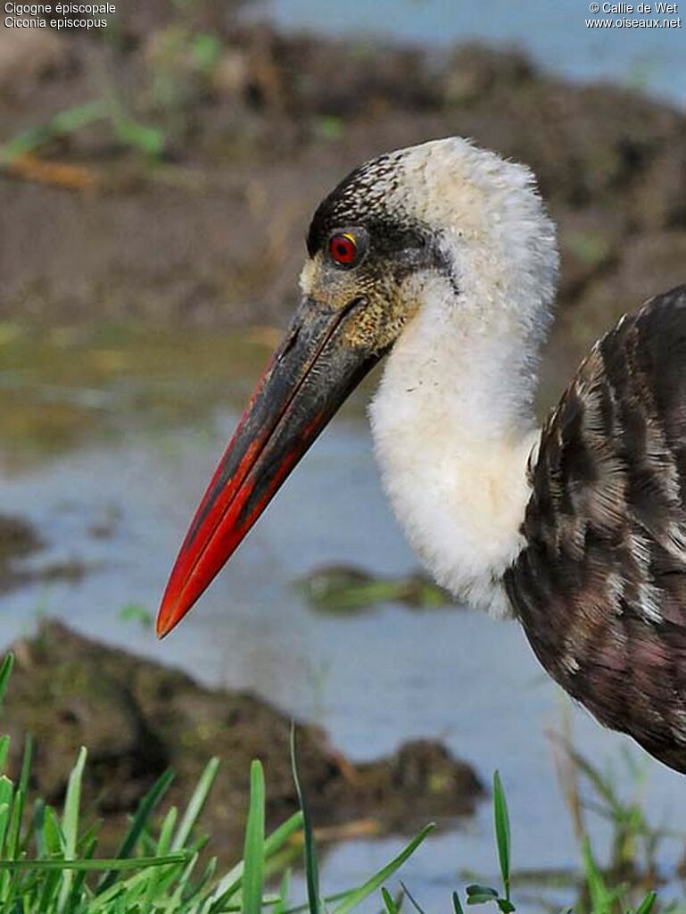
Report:
M459 310L460 292L478 286L481 273L507 286L512 259L522 260L520 282L530 260L536 271L527 226L540 228L544 217L532 185L521 165L451 138L367 162L322 201L307 235L301 303L185 537L158 615L160 636L206 590L428 297ZM479 299L478 288L470 292L464 302Z

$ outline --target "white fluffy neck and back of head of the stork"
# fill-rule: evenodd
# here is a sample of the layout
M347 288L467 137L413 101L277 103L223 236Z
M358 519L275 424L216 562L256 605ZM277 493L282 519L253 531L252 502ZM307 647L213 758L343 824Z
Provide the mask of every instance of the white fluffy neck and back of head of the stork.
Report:
M533 398L554 230L529 173L472 147L444 206L459 221L458 229L446 220L441 234L453 275L426 274L409 291L420 306L370 409L375 452L427 569L459 599L502 615L501 578L523 545L538 440Z

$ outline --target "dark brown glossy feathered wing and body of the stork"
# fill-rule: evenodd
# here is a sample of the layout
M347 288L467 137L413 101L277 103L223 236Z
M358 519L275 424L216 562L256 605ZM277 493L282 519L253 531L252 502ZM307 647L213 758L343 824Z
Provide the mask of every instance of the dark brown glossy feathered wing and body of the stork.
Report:
M545 669L686 771L686 286L622 318L544 426L505 585Z

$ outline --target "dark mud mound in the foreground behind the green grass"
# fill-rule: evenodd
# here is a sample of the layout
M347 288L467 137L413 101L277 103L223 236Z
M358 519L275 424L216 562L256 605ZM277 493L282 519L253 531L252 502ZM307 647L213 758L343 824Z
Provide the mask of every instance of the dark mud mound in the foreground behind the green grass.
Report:
M169 802L183 804L212 756L222 760L204 827L215 850L237 851L250 760L265 766L268 818L296 809L290 773L290 718L259 698L209 690L187 675L94 643L58 622L15 645L16 668L3 709L14 765L23 734L36 739L34 787L64 797L79 746L89 748L84 802L116 824L167 767ZM396 754L354 764L321 728L298 728L299 765L320 826L375 820L380 832L428 818L472 812L483 793L477 775L437 742L406 743ZM105 832L107 834L107 830Z

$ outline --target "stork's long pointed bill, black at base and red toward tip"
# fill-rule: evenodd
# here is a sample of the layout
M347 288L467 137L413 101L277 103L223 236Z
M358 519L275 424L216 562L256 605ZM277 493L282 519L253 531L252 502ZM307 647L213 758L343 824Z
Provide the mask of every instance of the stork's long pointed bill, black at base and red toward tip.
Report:
M184 618L378 361L345 332L362 304L332 310L305 298L293 315L185 536L157 616L159 637Z

